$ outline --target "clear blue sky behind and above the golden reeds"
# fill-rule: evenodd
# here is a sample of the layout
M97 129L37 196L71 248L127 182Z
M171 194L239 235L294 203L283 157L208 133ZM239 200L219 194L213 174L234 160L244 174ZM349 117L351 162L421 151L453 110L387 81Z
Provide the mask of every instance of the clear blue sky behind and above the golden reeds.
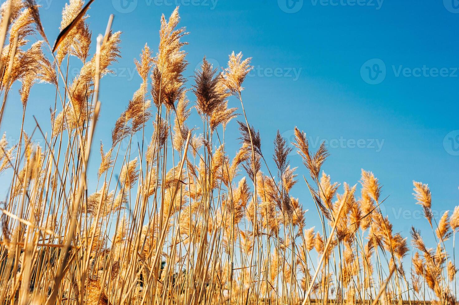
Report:
M45 31L54 41L65 1L47 1L38 2L43 6ZM110 145L111 128L140 85L133 59L138 58L145 43L156 52L161 14L170 15L177 3L181 6L181 25L190 32L186 37L190 44L185 47L190 66L185 76L193 74L204 55L220 67L226 66L233 50L253 57L256 71L244 84L243 98L249 122L260 129L266 156L273 153L278 129L289 140L295 126L314 143L317 139L341 139L337 146L336 141L330 142L331 155L323 168L332 181L353 185L361 168L373 171L384 185L383 197L390 195L385 211L394 230L408 237L414 225L427 233L428 223L415 219L421 217L412 195L413 180L429 183L435 211L453 210L459 205L459 156L454 155L452 146L459 147L459 138L455 138L459 135L459 10L448 1L453 0L385 0L382 4L376 0L340 0L332 1L338 4L332 6L304 0L291 2L293 9L288 10L285 0L137 0L128 6L130 12L123 12L119 0L96 0L89 11L94 40L105 31L111 13L115 14L113 29L124 33L123 58L113 66L118 76L107 76L101 82L101 124L95 140ZM352 3L364 5L350 6ZM384 71L381 61L386 77L381 83L369 84L366 67L373 69L379 62L374 71ZM71 66L79 70L77 61ZM429 70L429 77L408 77L410 71L424 66L447 68L448 77L433 77L435 70ZM400 67L409 70L398 74ZM192 94L189 98L194 100ZM22 113L16 92L8 103L2 132L14 138L18 137ZM36 85L27 108L28 132L34 127L33 114L49 126L51 105L54 89ZM234 99L230 105L239 106ZM151 128L148 130L149 138ZM229 151L239 147L234 143L238 136L233 121L227 131L227 139L233 142L228 141ZM455 142L448 142L449 138ZM360 142L365 148L354 147L353 141L359 139L364 140ZM93 156L92 164L98 167L100 157L97 153ZM291 155L291 164L299 166L300 175L306 174L296 154ZM274 169L274 162L271 166ZM5 187L9 179L9 175L1 178ZM292 195L310 210L308 225L319 226L302 179ZM409 216L397 219L400 211ZM433 247L433 236L424 235L430 237L427 239Z

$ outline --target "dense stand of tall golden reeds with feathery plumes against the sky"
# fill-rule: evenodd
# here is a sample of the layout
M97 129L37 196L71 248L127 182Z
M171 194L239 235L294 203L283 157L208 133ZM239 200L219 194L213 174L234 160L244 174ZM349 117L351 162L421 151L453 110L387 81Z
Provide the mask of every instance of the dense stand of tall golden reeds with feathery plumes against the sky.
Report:
M270 169L241 95L250 58L233 52L222 71L204 58L185 78L178 9L161 19L157 54L146 45L134 61L140 88L120 110L112 143L101 144L100 165L96 155L89 162L104 108L99 80L120 56L121 33L110 19L90 55L87 9L70 0L53 47L33 0L1 7L0 124L13 83L21 83L22 127L34 83L56 89L50 125L36 122L30 135L21 127L18 143L0 141L0 172L13 177L11 188L3 184L2 304L457 304L454 243L448 255L445 241L459 228L459 207L437 223L430 190L414 183L437 244L427 248L413 228L409 260L410 241L381 214L371 172L362 171L359 196L346 183L338 194L321 170L325 144L311 151L297 128L293 145L309 177L290 166L293 149L280 133ZM33 34L43 41L30 44ZM82 62L73 79L70 56ZM229 107L235 101L242 114ZM189 127L191 111L202 128ZM238 116L241 148L230 159L224 134ZM134 143L147 124L151 142ZM42 147L34 137L45 139ZM298 180L311 197L292 196ZM317 210L321 228L308 228L304 206Z

